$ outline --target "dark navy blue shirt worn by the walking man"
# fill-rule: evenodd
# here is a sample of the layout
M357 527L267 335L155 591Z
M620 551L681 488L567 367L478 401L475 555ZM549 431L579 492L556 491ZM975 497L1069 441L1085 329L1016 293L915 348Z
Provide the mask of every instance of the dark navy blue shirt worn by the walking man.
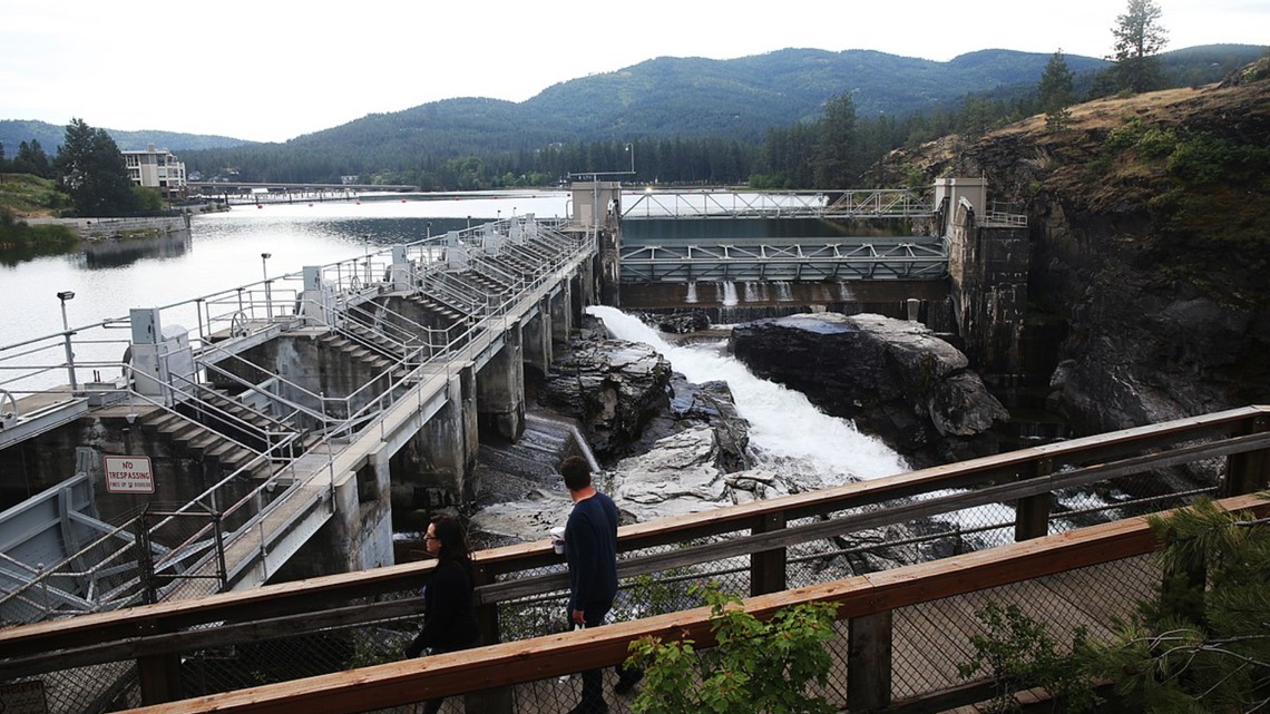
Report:
M603 493L573 504L564 527L564 555L569 563L569 609L617 596L617 506Z

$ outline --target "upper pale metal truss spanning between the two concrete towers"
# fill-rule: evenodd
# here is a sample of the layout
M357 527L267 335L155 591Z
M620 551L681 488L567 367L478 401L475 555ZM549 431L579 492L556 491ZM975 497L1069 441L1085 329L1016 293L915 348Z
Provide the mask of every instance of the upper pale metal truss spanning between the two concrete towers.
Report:
M630 193L624 196L631 196ZM930 197L908 189L757 192L648 191L624 207L622 220L649 219L922 219Z

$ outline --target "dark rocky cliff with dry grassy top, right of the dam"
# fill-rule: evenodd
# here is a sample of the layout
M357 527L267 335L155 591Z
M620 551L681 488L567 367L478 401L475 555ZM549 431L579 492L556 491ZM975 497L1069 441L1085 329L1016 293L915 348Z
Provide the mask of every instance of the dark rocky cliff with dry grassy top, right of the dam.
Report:
M1029 216L1031 324L1078 433L1270 403L1270 80L1104 99L893 155ZM977 366L972 366L977 367Z

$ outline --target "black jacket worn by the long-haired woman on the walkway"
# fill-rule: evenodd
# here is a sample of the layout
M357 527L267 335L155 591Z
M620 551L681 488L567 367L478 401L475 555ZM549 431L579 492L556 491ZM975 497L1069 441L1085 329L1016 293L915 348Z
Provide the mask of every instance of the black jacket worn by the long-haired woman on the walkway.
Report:
M405 648L406 657L418 657L424 648L453 652L480 643L480 628L472 609L471 572L462 562L438 563L428 578L423 598L423 630Z

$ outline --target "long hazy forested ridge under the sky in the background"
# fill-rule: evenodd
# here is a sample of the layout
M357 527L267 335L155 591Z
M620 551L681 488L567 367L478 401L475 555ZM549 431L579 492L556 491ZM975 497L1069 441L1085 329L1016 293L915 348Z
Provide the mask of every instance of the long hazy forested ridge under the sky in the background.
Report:
M914 47L914 52L919 52ZM1170 81L1201 84L1255 58L1253 46L1210 46L1161 55ZM458 98L401 112L370 114L284 144L225 137L107 130L121 149L146 144L177 151L190 170L212 177L232 168L255 180L338 180L340 175L428 173L461 156L532 152L552 144L693 138L753 146L770 128L818 118L827 99L850 94L857 116L904 116L950 107L969 94L1031 91L1050 55L984 50L947 62L874 51L781 50L737 60L658 57L569 80L522 102ZM1066 56L1087 85L1109 62ZM91 123L91 117L81 117ZM50 154L65 127L0 121L0 144L13 155L38 138ZM620 144L618 144L620 146ZM618 168L605 158L606 170ZM554 169L554 168L552 168ZM569 165L565 170L596 170Z

